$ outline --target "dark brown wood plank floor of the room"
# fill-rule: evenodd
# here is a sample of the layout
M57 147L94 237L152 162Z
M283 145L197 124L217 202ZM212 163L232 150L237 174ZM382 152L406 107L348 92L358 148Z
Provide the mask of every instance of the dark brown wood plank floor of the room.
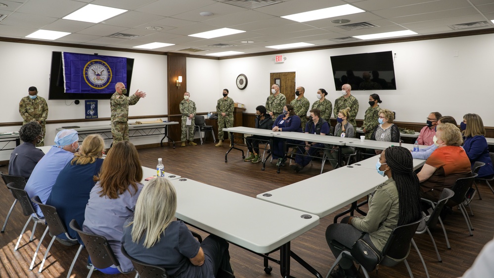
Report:
M320 161L314 161L314 164L307 166L306 169L296 174L287 166L283 167L280 174L276 174L274 164L268 164L266 171L261 171L262 164L253 164L243 162L240 151L232 150L228 156L228 163L225 163L226 145L215 148L211 142L204 145L180 147L177 148L161 147L140 149L139 155L143 166L154 168L158 158L163 158L165 171L178 174L185 178L190 178L202 183L215 185L234 192L255 197L257 194L275 189L284 185L289 185L314 175L319 174ZM325 166L325 171L329 171L331 166ZM7 167L0 167L0 171L7 172ZM377 175L377 173L376 173ZM327 181L330 183L331 181ZM0 182L2 183L2 182ZM350 186L350 185L341 185ZM434 238L438 244L439 252L443 258L443 263L439 263L432 247L430 238L427 234L415 236L415 241L419 246L422 255L425 258L429 274L432 278L452 278L461 276L468 269L477 254L480 252L486 242L493 238L494 231L494 195L486 185L479 185L483 199L476 199L472 202L472 209L475 213L471 217L472 224L475 228L474 236L468 235L467 226L461 213L453 209L452 215L446 220L446 229L451 243L451 249L446 248L446 242L441 229L433 231ZM13 201L12 195L4 185L0 186L0 221L3 222ZM207 196L204 196L204 202L207 202ZM198 207L201 204L197 204ZM228 207L225 207L227 210ZM336 213L335 213L336 214ZM334 215L321 219L320 225L313 230L306 232L302 236L292 241L291 247L297 255L305 259L324 277L329 270L335 258L331 254L324 232L326 227L332 223ZM267 218L274 218L276 215L266 213ZM27 217L22 214L20 206L17 204L7 225L4 233L0 234L0 277L1 278L18 278L18 277L66 277L69 266L77 251L77 247L67 247L55 242L51 248L42 274L38 274L38 267L35 272L29 271L29 264L43 234L43 228L39 227L35 232L35 239L28 243L31 235L32 226L22 238L21 247L18 251L13 251L13 247L19 236ZM235 225L241 219L225 219ZM206 235L203 232L200 232ZM38 258L36 260L39 266L49 239L45 239ZM263 260L237 246L230 244L230 255L232 266L237 278L258 278L269 277L264 273ZM71 277L86 277L87 252L81 253L80 259L76 263ZM277 252L273 254L276 257ZM414 250L410 251L408 262L412 268L414 277L425 277L424 269ZM273 271L271 277L280 276L279 267L272 264ZM312 277L302 266L293 259L291 260L291 274L294 277ZM94 278L106 277L105 275L94 272ZM112 276L116 278L134 277L133 274ZM378 277L372 273L371 277ZM404 264L394 268L380 267L379 277L408 277Z

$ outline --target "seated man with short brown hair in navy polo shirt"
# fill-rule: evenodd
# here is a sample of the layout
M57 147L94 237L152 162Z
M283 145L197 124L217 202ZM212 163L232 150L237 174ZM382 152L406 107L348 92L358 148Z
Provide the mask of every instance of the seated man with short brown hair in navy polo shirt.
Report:
M305 125L305 133L316 134L316 135L326 135L329 134L329 123L321 118L321 111L319 109L312 109L309 121ZM319 148L323 148L324 144L317 142L305 141L304 149L297 149L297 156L295 156L295 164L290 165L290 168L299 172L302 170L309 162L312 160L312 155ZM307 155L302 155L307 152Z

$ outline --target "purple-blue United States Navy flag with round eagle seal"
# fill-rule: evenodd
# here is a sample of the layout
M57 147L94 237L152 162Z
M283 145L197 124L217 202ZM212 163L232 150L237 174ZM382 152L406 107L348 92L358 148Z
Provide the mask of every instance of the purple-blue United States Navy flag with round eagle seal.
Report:
M127 81L127 58L62 52L65 93L115 93Z

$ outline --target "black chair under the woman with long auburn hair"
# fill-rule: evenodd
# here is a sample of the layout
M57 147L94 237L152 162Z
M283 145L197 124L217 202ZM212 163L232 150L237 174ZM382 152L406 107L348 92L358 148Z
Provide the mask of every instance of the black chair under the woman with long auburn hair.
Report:
M81 237L91 258L92 266L89 271L88 278L91 277L94 268L105 269L111 267L112 265L115 265L118 271L120 271L123 274L130 273L130 272L122 271L122 268L120 267L120 263L118 262L118 259L115 257L115 254L113 253L110 243L108 242L106 237L102 235L92 234L89 232L83 232L75 219L72 219L69 226L70 228L72 228L72 230L76 231L79 234L79 237ZM79 254L76 254L76 256L78 255ZM74 258L74 260L75 259L76 258Z

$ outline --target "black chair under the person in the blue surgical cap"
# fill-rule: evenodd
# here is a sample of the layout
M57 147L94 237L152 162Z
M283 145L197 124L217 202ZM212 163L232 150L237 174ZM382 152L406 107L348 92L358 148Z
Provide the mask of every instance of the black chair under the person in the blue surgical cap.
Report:
M15 183L8 183L7 188L10 189L14 197L19 201L22 207L22 212L24 213L25 216L29 216L28 220L26 221L26 224L24 225L24 228L22 228L22 232L19 235L19 239L17 239L17 243L15 244L14 251L17 251L19 248L19 243L21 242L22 235L26 231L26 228L28 224L33 221L33 232L31 232L31 238L29 239L29 242L33 241L34 237L34 232L36 231L36 225L38 225L38 222L42 224L45 223L45 219L43 217L40 217L37 213L36 210L33 207L33 203L31 202L31 199L29 198L28 193L26 190L24 190L24 185L16 185Z

